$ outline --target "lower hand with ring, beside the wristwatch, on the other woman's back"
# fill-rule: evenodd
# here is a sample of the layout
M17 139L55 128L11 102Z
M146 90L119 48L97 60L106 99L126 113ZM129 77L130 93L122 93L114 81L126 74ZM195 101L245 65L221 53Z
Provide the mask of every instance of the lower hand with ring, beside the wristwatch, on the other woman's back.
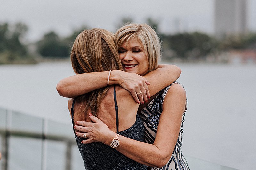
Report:
M109 145L108 139L113 139L115 137L115 132L111 131L104 122L102 122L97 117L89 113L90 119L94 122L76 121L74 128L79 131L76 135L83 138L84 133L89 139L83 140L83 144L88 144L92 142L102 142ZM112 140L111 139L111 140Z

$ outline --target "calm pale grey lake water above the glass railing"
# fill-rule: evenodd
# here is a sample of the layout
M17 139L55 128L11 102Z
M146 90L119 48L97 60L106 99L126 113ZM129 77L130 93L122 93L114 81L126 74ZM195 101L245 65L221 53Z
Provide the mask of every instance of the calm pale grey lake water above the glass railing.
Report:
M256 162L256 65L176 64L188 110L185 155L236 169ZM68 62L0 65L0 107L71 125L56 84L74 75Z

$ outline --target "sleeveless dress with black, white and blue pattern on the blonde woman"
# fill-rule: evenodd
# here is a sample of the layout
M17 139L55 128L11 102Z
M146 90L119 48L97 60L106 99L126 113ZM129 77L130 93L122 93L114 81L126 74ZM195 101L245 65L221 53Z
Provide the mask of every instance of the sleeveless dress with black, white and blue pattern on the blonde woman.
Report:
M172 84L174 83L180 84L178 82L173 82ZM148 103L148 105L141 111L140 117L142 118L142 121L145 127L144 140L147 143L153 144L155 141L159 118L162 113L162 105L164 102L164 97L167 91L172 86L172 84L162 89L159 92L159 94L150 103ZM189 170L188 163L181 152L182 133L183 133L182 127L183 127L186 110L187 110L187 100L186 100L186 108L182 116L179 137L174 147L173 153L170 153L172 154L172 156L169 159L168 163L161 168L147 166L148 170Z

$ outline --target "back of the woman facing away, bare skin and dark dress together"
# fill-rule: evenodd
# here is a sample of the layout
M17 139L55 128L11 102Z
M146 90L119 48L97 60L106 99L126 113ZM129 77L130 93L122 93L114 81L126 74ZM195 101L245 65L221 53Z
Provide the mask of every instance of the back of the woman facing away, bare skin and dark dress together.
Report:
M100 103L98 117L108 125L109 129L116 132L116 111L114 103L114 86L111 86L107 95ZM136 114L138 104L133 100L131 94L125 89L116 86L116 99L118 105L118 134L138 141L144 139L144 126L141 118ZM69 101L68 107L71 109L72 100ZM89 110L87 110L89 111ZM74 120L79 119L77 113L80 112L80 104L74 104ZM85 120L90 121L89 112L86 112ZM74 121L73 120L73 121ZM74 124L74 122L73 122ZM103 143L82 144L84 138L79 138L75 135L79 151L84 160L84 166L87 169L146 169L146 166L141 165L132 159L127 158L116 149ZM122 143L120 143L122 145Z

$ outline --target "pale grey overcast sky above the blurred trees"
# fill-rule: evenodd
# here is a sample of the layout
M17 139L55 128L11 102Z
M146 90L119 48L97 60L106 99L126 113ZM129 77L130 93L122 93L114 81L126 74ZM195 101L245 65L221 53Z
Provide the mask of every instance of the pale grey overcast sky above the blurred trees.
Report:
M255 9L256 1L248 0L248 28L253 31ZM180 29L213 34L214 0L7 0L0 6L0 23L25 23L28 40L38 40L50 30L65 36L82 25L114 32L124 17L139 23L151 17L159 21L162 32Z

